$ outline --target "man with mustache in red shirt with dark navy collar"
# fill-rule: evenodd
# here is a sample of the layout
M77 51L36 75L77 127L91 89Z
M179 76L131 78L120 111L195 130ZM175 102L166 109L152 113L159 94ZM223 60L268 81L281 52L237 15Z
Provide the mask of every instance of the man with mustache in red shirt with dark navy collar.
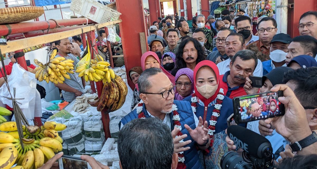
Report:
M224 94L233 99L237 96L247 95L243 86L245 78L253 75L258 64L256 53L251 50L241 50L232 57L230 70L220 75L219 86Z

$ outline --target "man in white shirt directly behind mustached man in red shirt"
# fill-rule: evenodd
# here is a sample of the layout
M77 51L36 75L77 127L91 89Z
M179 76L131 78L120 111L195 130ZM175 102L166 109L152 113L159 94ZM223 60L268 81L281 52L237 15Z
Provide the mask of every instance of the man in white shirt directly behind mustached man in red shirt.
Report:
M230 65L232 57L236 55L238 51L245 49L243 36L239 33L229 34L226 38L224 49L226 54L230 57L230 59L227 59L217 64L217 67L219 69L219 75L224 75L227 71L229 71L230 70L229 65ZM253 72L253 75L254 76L263 75L262 62L259 59L256 65L256 69Z

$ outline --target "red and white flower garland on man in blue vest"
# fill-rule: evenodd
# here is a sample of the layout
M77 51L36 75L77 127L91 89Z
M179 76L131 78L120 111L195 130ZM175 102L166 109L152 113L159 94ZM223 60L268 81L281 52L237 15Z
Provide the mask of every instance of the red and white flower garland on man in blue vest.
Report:
M145 114L142 112L143 110L143 103L139 103L138 104L138 107L136 108L137 109L137 114L138 115L138 118L139 119L145 119L146 116ZM176 137L179 137L181 135L183 135L183 133L181 132L182 130L182 125L181 123L179 122L180 120L180 117L179 117L179 114L177 112L177 106L175 104L172 105L172 110L171 112L173 112L173 121L174 121L174 127L178 128L179 129L179 132L177 133ZM180 140L179 142L184 142L184 140ZM184 156L184 152L179 152L178 153L178 162L181 162L181 163L184 163L185 161L185 156Z

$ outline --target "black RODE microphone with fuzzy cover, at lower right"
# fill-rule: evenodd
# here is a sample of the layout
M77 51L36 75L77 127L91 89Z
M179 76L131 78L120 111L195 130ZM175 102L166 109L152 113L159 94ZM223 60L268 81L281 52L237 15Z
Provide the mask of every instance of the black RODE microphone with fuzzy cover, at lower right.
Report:
M263 159L272 156L271 143L262 135L238 125L229 126L228 136L250 156Z

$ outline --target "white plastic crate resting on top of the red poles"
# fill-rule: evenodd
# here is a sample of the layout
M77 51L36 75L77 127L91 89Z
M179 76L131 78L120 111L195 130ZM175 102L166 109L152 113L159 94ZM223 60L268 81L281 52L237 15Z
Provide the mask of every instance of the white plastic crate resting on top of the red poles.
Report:
M72 0L70 10L97 23L115 21L121 15L120 12L94 0Z

